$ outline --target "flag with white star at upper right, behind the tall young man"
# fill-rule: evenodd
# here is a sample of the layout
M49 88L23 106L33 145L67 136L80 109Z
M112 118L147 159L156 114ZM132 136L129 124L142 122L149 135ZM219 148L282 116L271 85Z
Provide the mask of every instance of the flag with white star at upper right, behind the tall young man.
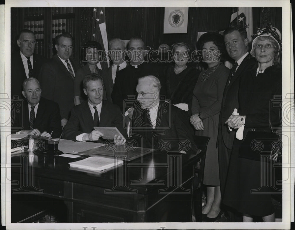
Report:
M253 34L253 14L252 7L233 7L232 16L230 17L231 26L242 26L246 28L249 42Z

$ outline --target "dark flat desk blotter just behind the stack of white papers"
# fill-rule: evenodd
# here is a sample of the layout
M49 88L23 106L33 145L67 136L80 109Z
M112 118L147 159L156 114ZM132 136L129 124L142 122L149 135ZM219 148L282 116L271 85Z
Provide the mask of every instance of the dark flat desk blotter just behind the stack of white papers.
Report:
M119 154L128 154L127 156L127 161L131 161L133 159L136 159L138 157L144 156L146 154L149 154L153 152L153 149L148 149L148 148L140 148L140 147L130 147L126 145L119 145L116 146L114 144L111 145L104 145L100 146L95 149L89 149L86 151L82 151L81 154L83 155L89 155L89 156L104 156L104 157L109 157L109 158L114 158L114 155L119 155Z

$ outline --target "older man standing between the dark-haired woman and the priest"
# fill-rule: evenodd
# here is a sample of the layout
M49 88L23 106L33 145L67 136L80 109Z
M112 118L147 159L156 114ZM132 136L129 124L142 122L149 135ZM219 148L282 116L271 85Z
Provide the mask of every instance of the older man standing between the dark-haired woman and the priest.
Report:
M111 95L117 72L124 69L126 66L129 66L129 63L124 60L124 51L126 50L124 41L119 38L114 38L109 41L109 47L113 64L107 69L106 74L104 74L103 77L104 88L106 90L106 99L113 103Z

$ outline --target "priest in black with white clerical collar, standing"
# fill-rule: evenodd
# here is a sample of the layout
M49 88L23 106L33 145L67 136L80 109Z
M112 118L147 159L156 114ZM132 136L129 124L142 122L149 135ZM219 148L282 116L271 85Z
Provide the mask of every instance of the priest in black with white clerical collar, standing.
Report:
M132 119L132 104L134 99L130 99L130 97L133 96L135 98L138 78L146 75L153 75L160 79L162 85L165 84L163 81L163 70L159 66L145 61L147 50L141 38L131 38L128 43L128 50L130 65L117 73L112 99L113 103L120 107L123 114L128 109L128 117ZM164 95L162 92L161 94Z

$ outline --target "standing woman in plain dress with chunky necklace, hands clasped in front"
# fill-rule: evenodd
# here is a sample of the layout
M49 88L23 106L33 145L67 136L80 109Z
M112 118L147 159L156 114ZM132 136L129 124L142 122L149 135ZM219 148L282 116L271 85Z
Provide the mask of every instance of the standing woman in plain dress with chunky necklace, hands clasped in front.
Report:
M208 69L201 72L193 91L193 116L190 121L196 129L196 135L210 136L204 171L207 203L202 214L206 216L205 221L214 222L222 214L216 142L221 101L230 70L220 62L220 56L225 51L223 37L220 34L203 34L198 43Z

